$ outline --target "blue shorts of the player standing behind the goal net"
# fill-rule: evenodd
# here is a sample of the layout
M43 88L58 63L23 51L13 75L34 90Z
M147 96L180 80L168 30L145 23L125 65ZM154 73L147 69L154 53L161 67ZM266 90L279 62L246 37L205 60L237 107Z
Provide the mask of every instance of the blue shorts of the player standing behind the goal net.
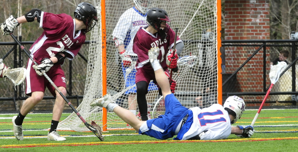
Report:
M131 56L132 61L136 61L138 59L137 56ZM123 63L122 64L122 71L123 71L123 76L125 79L125 87L128 88L130 86L133 86L132 88L126 90L125 94L130 94L130 93L137 93L137 86L135 85L135 73L137 72L137 70L135 68L133 68L131 70L131 72L126 75L126 67L123 67ZM152 90L158 90L158 87L153 83L153 81L151 81L149 83L148 86L148 91L152 91Z

